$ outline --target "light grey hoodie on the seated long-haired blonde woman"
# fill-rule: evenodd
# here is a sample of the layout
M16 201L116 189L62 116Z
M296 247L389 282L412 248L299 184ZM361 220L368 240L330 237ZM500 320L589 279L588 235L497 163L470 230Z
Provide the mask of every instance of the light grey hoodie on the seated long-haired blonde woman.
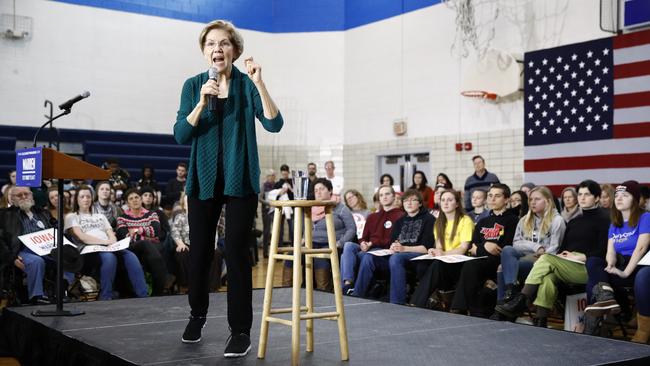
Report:
M564 230L566 230L566 223L557 211L553 211L553 222L551 229L542 238L539 237L539 227L542 224L542 219L535 216L535 225L531 236L524 234L524 219L526 216L519 219L517 230L515 230L515 237L512 240L512 246L523 254L536 253L541 247L544 247L546 253L555 253L557 248L562 243L564 237Z

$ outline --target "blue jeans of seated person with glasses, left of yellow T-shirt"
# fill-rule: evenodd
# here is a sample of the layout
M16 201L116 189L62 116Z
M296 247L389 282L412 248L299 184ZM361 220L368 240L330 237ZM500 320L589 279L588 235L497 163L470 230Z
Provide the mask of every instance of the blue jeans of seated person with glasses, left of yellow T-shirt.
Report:
M367 296L368 287L370 287L375 272L384 271L390 274L390 302L404 304L406 302L406 265L412 258L420 255L422 253L395 253L383 257L364 255L354 286L354 294Z

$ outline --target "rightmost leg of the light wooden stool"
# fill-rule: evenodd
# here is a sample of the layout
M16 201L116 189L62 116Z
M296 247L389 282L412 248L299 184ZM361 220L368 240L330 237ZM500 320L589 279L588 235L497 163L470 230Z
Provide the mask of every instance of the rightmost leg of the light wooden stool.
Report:
M339 326L339 344L341 345L341 360L349 359L348 331L345 326L345 310L343 309L343 290L341 289L341 272L339 267L339 255L336 248L336 231L334 230L334 218L332 207L325 209L325 223L327 226L327 241L331 249L330 261L332 263L332 281L334 282L334 300L336 301L336 312L339 313L337 322Z

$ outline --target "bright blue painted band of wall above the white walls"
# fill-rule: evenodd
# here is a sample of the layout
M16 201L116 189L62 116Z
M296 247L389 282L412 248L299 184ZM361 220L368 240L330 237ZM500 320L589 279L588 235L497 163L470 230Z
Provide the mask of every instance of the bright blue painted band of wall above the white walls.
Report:
M228 19L268 33L344 31L441 0L54 0L206 23Z

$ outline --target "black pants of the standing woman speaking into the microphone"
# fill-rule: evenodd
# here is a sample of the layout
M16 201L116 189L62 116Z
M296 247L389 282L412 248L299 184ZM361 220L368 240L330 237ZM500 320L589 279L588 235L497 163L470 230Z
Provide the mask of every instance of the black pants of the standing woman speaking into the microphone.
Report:
M257 196L189 198L190 266L188 298L192 316L206 316L209 305L210 265L221 206L226 204L225 256L228 267L228 324L233 333L250 334L253 324L253 277L248 237L257 210Z

